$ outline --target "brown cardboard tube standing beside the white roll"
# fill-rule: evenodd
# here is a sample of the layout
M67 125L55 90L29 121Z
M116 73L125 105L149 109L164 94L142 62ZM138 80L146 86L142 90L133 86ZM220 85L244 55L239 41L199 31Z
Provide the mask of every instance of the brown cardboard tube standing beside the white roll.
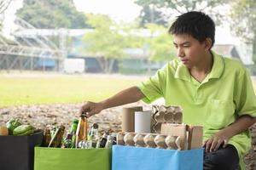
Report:
M135 111L143 111L143 107L126 107L122 109L122 132L134 132Z

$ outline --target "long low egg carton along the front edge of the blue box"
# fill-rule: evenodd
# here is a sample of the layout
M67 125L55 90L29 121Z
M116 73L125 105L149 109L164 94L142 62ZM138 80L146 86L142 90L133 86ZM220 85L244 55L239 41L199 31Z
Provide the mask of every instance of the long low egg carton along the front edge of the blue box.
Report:
M179 136L156 133L118 133L117 144L167 150L182 150Z

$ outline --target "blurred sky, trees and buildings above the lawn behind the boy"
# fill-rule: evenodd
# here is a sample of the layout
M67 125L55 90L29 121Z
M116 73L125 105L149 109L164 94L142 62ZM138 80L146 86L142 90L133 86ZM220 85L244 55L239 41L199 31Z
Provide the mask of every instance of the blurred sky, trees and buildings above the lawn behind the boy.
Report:
M0 70L152 74L176 57L167 28L201 10L219 54L256 74L254 0L2 0Z

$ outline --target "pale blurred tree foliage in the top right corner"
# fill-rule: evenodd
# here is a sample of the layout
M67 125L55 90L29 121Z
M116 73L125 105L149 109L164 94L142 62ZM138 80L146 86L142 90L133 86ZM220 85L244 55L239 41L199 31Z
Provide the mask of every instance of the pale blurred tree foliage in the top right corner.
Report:
M236 0L231 2L230 29L244 42L253 44L253 72L256 74L256 2Z

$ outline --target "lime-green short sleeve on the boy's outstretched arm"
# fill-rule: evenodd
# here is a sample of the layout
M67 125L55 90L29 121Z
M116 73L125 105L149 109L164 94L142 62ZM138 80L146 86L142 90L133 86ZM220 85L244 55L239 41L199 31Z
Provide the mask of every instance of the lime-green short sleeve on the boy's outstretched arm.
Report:
M168 65L164 66L153 77L149 77L148 80L137 85L137 88L145 95L145 98L143 98L145 103L149 104L155 99L163 97L163 88L166 86L167 67Z

